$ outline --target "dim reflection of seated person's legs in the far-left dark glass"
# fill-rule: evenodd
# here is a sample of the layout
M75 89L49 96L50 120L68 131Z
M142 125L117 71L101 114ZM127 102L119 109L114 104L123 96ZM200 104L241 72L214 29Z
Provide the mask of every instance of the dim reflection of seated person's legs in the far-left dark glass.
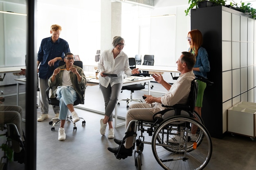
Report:
M25 145L25 135L22 130L22 107L16 105L2 105L3 102L4 98L0 97L0 126L7 123L16 125L20 136L17 136L18 134L15 132L15 129L13 129L13 126L10 126L11 145L14 151L13 160L24 163L25 150L22 150L23 148L20 144L22 141L23 147Z

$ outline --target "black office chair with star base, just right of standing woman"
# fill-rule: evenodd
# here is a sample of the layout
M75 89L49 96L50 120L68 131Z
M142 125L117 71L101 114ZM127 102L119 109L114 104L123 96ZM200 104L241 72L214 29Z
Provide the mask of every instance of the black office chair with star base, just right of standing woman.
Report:
M135 58L129 58L129 65L130 65L130 69L136 68ZM142 90L142 89L145 89L145 86L141 85L141 84L123 86L122 89L121 89L121 93L123 92L123 90L130 90L130 98L118 100L117 105L119 106L120 105L120 101L124 100L124 101L126 101L126 108L128 109L129 108L129 103L131 101L141 102L142 103L141 99L139 99L139 98L137 98L137 99L132 98L132 93L135 90Z

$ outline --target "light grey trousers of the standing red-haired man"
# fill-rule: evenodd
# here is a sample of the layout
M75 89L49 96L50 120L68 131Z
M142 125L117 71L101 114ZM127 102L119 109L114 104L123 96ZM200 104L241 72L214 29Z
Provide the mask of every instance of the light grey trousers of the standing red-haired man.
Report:
M49 102L46 95L46 89L48 88L48 79L39 78L39 89L40 89L40 108L41 108L41 114L48 114L49 112ZM60 113L60 107L56 106L52 109L54 113Z

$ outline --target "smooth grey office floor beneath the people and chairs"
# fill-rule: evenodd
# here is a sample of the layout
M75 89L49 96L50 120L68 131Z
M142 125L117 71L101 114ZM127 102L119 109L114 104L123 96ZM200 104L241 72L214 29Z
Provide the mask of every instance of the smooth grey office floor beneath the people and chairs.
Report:
M16 86L11 88L16 89ZM160 89L157 84L154 84L153 89ZM104 109L100 100L90 100L90 95L93 98L102 98L102 94L97 87L87 87L85 94L86 107L95 107L98 110ZM141 98L146 92L139 91L133 94L134 98ZM153 96L161 95L151 93ZM22 96L22 95L21 95ZM119 98L129 97L129 92L123 92ZM6 99L10 97L6 97ZM16 98L13 99L16 101ZM22 99L21 99L22 100ZM11 100L12 101L12 100ZM22 105L22 103L20 103ZM53 118L54 113L49 107L49 117ZM58 141L58 127L55 126L55 131L51 131L49 125L50 118L37 122L37 170L133 170L135 169L134 155L126 159L118 160L114 154L110 153L108 147L116 147L117 144L113 139L108 139L99 133L99 120L103 118L102 114L77 109L80 117L86 121L85 126L82 122L76 123L77 130L73 131L73 124L66 122L65 132L66 140ZM118 107L118 114L126 113L125 102L122 102ZM37 109L37 116L40 116L40 109ZM124 120L118 120L124 121ZM107 127L108 130L108 127ZM115 128L115 137L121 139L124 135L124 126ZM150 137L145 133L146 139ZM213 153L211 160L205 170L255 170L256 169L256 142L249 137L231 136L227 133L223 139L212 138ZM158 170L162 169L153 156L151 145L144 145L142 153L142 169L143 170ZM9 170L22 170L23 164L16 162L9 163Z

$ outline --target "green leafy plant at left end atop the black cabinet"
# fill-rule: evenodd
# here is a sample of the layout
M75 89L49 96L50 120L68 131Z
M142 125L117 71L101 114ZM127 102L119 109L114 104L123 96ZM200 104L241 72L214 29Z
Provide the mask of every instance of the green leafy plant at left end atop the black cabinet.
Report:
M194 8L212 7L225 5L225 0L189 0L189 8L185 10L186 15L189 15L190 10Z

